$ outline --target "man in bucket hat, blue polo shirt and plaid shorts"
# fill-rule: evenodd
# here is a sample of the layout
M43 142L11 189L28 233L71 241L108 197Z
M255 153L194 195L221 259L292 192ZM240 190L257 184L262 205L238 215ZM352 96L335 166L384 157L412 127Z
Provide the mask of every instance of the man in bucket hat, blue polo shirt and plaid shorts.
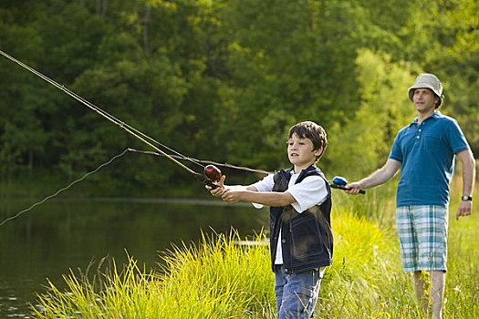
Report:
M401 169L396 194L396 222L402 268L414 273L416 293L428 312L425 297L432 298L432 314L442 318L447 259L447 225L454 157L463 164L463 197L456 219L473 211L475 163L463 132L453 118L437 108L443 103L443 86L432 74L422 74L409 88L417 117L394 140L386 164L365 179L347 185L357 194L383 184ZM424 291L422 272L430 273L431 291Z

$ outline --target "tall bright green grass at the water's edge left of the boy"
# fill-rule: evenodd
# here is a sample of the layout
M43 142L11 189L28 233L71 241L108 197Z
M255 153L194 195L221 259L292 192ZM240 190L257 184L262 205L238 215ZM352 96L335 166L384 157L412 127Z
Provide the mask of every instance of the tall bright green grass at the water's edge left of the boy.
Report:
M264 241L259 234L256 241ZM267 246L238 246L237 233L203 237L198 246L173 247L163 254L164 272L139 269L129 258L122 270L65 275L67 292L49 283L39 296L37 318L260 318L274 314L273 273ZM266 266L265 266L266 265ZM93 275L93 276L91 276Z

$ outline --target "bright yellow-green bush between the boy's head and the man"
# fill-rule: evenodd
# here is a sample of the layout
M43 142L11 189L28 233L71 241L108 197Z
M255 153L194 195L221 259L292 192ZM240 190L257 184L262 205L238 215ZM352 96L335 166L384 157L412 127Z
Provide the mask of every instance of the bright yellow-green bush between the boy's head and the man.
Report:
M414 116L404 89L414 81L407 65L367 49L359 50L356 63L359 109L345 124L329 129L331 148L325 154L330 172L354 179L384 164L397 131Z

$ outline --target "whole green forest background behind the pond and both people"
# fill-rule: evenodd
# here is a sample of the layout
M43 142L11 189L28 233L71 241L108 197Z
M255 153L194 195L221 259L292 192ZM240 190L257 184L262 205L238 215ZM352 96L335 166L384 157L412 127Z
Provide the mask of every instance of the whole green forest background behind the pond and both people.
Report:
M319 166L354 180L414 117L407 89L422 72L442 79L440 110L477 156L477 12L474 0L3 0L0 49L196 159L284 168L288 129L314 120L328 132ZM152 150L4 57L0 87L2 197ZM223 170L227 182L259 177ZM68 196L202 191L171 161L129 153Z

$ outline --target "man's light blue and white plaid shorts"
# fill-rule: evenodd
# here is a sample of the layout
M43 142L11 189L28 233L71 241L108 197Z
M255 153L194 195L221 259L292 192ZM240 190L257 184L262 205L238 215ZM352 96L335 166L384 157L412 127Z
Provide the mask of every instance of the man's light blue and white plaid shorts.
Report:
M404 272L447 271L448 209L433 205L396 208Z

